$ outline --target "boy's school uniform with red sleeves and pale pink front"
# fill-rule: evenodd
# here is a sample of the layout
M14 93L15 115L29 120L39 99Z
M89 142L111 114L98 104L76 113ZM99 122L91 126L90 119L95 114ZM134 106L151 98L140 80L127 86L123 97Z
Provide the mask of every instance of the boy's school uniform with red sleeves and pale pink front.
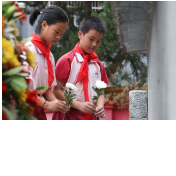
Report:
M78 47L79 43L75 46ZM104 81L107 85L109 84L108 77L105 71L105 68L102 62L98 59L90 60L88 59L88 85L87 88L84 87L84 81L79 81L79 73L81 70L81 66L84 62L83 55L77 50L72 50L69 53L63 55L56 64L55 74L56 79L64 83L72 83L76 84L75 86L78 88L74 94L78 95L75 99L79 102L86 102L86 99L89 102L95 104L96 101L93 100L93 96L96 96L95 91L92 89L92 86L95 87L96 80ZM95 58L97 57L94 53ZM98 58L98 57L97 57ZM84 70L83 70L84 71ZM84 73L83 73L84 74ZM67 89L67 88L66 88ZM88 91L88 97L85 97L85 89ZM62 120L64 113L55 111L53 114L53 120ZM65 114L65 120L92 120L93 114L89 114L89 119L86 119L86 114L80 112L74 108L71 108ZM97 118L94 117L96 120Z

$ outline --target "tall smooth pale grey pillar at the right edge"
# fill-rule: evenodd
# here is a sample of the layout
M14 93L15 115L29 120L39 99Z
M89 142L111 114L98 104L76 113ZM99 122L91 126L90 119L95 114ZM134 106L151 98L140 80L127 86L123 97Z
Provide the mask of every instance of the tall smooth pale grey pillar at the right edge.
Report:
M176 1L153 1L148 52L148 119L176 120Z

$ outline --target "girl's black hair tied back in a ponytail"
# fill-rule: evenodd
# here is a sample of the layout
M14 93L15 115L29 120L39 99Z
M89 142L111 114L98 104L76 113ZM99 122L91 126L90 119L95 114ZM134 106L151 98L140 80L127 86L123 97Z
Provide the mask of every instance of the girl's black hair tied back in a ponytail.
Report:
M35 9L31 12L29 17L29 23L33 26L37 16L40 15L40 11ZM35 33L40 34L42 29L42 22L46 21L48 25L56 24L57 22L67 22L69 23L68 16L66 12L58 6L48 7L41 15L38 20L38 24L35 28Z

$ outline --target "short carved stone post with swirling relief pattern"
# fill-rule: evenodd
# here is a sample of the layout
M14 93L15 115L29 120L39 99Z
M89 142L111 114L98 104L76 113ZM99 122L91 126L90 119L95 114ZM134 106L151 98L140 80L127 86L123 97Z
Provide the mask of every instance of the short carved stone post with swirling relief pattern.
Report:
M147 92L132 90L129 92L129 119L147 120Z

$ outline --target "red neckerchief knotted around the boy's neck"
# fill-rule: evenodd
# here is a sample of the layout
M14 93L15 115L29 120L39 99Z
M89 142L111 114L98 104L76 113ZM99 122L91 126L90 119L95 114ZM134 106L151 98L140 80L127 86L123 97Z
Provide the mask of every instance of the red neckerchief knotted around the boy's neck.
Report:
M98 57L94 52L91 53L91 54L86 54L85 55L82 52L81 48L79 47L79 43L76 44L76 46L73 50L74 50L74 52L77 52L77 53L81 54L82 57L84 58L84 61L83 61L82 65L81 65L81 68L79 70L78 79L77 79L75 85L79 81L83 81L83 89L84 89L85 100L86 100L86 102L89 102L89 94L88 94L89 66L88 66L88 61L90 61L90 60L98 61ZM86 114L86 120L90 120L91 114L89 114L89 113L85 113L85 114Z

